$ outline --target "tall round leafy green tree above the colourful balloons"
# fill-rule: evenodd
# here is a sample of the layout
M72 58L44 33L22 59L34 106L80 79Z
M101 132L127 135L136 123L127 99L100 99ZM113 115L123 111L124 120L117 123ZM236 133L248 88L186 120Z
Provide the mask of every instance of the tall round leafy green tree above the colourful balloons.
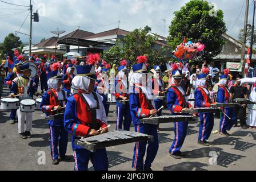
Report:
M225 41L221 35L226 32L222 10L214 10L207 1L191 0L174 12L174 19L169 27L167 42L175 49L184 38L192 42L205 44L202 60L212 60L221 51Z

